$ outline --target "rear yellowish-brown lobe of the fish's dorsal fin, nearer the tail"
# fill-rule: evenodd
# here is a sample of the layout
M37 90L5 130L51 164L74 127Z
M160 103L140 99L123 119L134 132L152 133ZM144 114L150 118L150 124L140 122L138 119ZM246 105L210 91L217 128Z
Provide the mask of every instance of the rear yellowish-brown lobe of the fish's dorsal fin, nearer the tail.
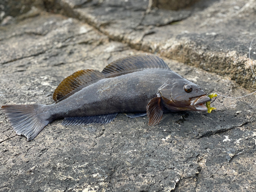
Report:
M53 93L53 100L58 101L66 95L81 87L86 87L90 82L101 79L104 74L95 70L80 70L68 76L59 83Z

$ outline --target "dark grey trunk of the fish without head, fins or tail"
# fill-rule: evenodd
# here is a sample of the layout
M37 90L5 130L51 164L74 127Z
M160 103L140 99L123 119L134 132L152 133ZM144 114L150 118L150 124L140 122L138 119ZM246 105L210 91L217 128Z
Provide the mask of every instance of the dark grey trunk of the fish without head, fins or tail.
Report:
M147 103L164 83L182 78L170 70L143 69L90 84L65 100L51 105L57 118L120 112L145 112ZM50 109L50 108L49 108Z

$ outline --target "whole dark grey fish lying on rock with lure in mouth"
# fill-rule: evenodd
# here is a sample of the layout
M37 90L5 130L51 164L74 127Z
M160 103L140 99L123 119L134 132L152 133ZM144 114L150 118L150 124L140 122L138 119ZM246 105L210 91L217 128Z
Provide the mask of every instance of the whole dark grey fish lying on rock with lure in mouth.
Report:
M46 125L106 124L118 113L148 117L156 125L165 112L207 111L211 99L195 83L169 69L155 55L118 59L101 72L80 70L65 78L53 93L53 104L12 104L1 109L17 135L34 139Z

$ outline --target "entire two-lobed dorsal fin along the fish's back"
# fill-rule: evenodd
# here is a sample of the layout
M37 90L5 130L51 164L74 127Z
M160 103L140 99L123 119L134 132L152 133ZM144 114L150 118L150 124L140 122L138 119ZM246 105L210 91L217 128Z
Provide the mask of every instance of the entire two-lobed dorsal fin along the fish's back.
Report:
M108 66L102 72L95 70L80 70L68 76L59 83L53 94L53 100L59 101L87 87L89 84L104 78L111 77L113 74L129 73L140 69L155 68L168 69L166 63L155 55L134 55L118 59Z

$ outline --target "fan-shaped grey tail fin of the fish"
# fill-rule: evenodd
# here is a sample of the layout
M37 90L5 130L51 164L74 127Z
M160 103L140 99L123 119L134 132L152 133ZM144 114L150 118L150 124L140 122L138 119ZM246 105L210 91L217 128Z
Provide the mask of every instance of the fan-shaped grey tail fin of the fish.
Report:
M38 133L49 124L45 120L45 115L38 113L38 109L46 105L41 104L18 104L18 105L4 105L4 111L7 119L12 125L17 135L24 135L28 141L34 139Z

